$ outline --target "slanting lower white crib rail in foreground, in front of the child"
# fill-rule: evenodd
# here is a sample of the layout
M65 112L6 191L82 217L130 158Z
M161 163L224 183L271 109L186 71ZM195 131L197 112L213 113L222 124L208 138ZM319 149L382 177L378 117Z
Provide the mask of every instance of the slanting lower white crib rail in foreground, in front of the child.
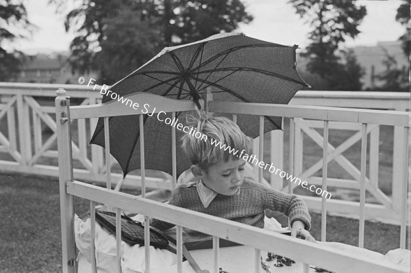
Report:
M364 260L347 252L326 248L324 246L266 231L254 226L240 224L204 213L159 203L131 194L114 192L103 187L68 181L67 193L86 198L97 203L106 203L112 207L127 211L136 211L150 218L184 226L188 229L229 239L232 242L251 246L256 249L271 251L290 257L295 261L315 264L335 272L406 272L372 259ZM181 259L178 259L181 261ZM260 266L260 257L255 261ZM356 269L352 269L356 265Z

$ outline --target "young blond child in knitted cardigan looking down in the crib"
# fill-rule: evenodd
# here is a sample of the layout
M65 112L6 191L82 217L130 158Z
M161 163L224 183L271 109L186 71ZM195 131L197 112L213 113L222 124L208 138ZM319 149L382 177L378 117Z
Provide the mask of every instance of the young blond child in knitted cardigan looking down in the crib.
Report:
M290 218L292 236L315 241L308 232L311 218L301 198L245 177L244 159L211 144L214 138L251 155L251 138L242 133L236 123L205 112L200 112L199 117L189 116L187 123L207 135L207 141L188 133L182 137L182 148L192 163L190 170L197 183L179 185L169 204L260 228L264 228L265 209L279 211ZM174 226L155 219L151 225L162 231ZM198 231L185 231L186 242L211 239L210 235Z

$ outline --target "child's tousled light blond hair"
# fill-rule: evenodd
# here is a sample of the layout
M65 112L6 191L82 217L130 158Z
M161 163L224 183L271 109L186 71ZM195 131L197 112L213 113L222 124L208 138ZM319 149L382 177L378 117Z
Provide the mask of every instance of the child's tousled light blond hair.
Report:
M238 160L242 150L250 154L251 138L242 133L240 127L228 118L198 111L197 116L187 116L186 123L188 127L201 133L201 137L196 138L194 134L185 133L182 136L182 148L191 164L205 171L221 158L224 161L228 161L229 157ZM212 144L212 139L219 144ZM221 148L220 143L221 146L225 144L225 147L229 148Z

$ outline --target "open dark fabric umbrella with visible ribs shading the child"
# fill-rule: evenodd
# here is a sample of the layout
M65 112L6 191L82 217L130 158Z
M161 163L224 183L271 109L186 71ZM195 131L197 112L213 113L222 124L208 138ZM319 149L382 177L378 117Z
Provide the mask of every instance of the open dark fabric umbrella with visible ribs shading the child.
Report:
M115 83L118 96L150 92L172 99L198 101L210 88L214 101L286 104L308 86L296 70L295 50L243 34L217 34L198 42L166 47L149 62ZM114 97L115 99L115 97ZM112 96L103 96L103 103ZM180 121L184 121L179 116ZM166 116L164 116L165 118ZM155 116L145 115L145 168L171 174L171 128ZM238 125L251 138L258 136L257 116L238 116ZM264 131L281 129L281 117L266 117ZM124 176L140 168L138 116L110 118L110 150ZM104 147L104 123L100 118L91 144ZM184 133L176 130L177 139ZM178 144L177 144L178 145ZM190 162L177 146L177 175Z

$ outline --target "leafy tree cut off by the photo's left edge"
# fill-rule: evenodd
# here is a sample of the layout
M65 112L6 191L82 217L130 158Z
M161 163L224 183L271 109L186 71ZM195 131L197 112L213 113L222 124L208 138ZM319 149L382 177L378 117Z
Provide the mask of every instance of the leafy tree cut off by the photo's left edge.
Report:
M27 12L21 1L5 0L0 2L0 81L12 79L20 71L20 66L25 55L21 51L5 50L4 42L12 42L16 38L24 38L27 35L25 29L30 31L32 25L27 20ZM22 33L23 32L23 33Z

